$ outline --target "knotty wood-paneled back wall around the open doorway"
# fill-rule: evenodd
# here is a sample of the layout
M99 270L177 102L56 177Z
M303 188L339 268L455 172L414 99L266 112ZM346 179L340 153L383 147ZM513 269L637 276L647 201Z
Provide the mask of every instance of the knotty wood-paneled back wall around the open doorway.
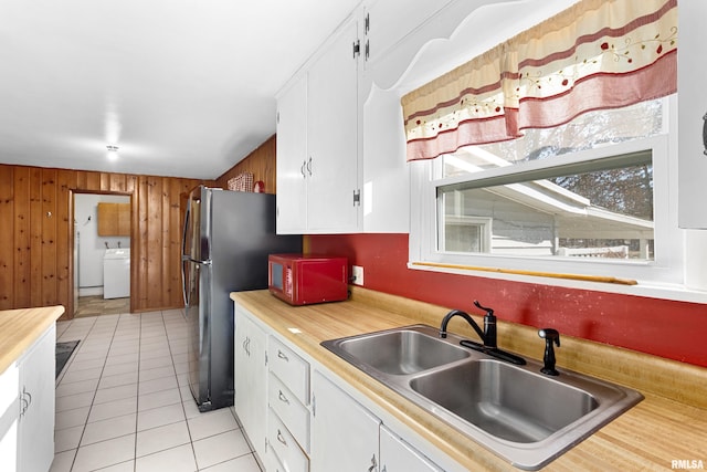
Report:
M214 181L0 165L0 310L64 305L73 316L73 195L131 197L130 310L183 305L181 200Z

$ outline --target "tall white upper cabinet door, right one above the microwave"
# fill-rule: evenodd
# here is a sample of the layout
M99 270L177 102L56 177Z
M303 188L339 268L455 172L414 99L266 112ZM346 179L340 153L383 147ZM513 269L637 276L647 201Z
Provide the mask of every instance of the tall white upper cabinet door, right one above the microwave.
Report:
M358 56L355 20L327 43L308 71L307 207L309 232L358 230ZM278 188L279 191L279 188Z

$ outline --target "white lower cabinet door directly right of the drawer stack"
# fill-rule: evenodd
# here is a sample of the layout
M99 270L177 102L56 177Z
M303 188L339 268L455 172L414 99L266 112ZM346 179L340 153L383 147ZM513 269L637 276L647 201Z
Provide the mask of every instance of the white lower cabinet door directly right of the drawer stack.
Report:
M380 420L318 371L312 391L312 472L378 472Z

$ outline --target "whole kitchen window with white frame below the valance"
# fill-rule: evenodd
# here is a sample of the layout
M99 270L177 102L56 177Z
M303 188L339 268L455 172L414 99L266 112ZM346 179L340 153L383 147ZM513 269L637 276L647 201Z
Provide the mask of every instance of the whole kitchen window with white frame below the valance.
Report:
M684 237L668 193L674 102L412 162L412 266L682 283Z

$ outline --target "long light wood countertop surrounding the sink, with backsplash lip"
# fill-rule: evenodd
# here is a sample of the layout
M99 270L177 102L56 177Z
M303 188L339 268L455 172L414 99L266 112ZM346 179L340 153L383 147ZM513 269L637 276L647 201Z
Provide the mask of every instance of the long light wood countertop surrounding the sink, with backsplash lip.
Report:
M267 291L231 298L468 470L518 470L319 345L416 323L436 327L449 308L358 287L347 302L299 307ZM458 317L449 328L476 338ZM499 321L498 346L542 357L542 339L532 327ZM569 336L556 353L558 367L634 388L645 399L542 470L672 470L675 460L707 466L707 369Z

